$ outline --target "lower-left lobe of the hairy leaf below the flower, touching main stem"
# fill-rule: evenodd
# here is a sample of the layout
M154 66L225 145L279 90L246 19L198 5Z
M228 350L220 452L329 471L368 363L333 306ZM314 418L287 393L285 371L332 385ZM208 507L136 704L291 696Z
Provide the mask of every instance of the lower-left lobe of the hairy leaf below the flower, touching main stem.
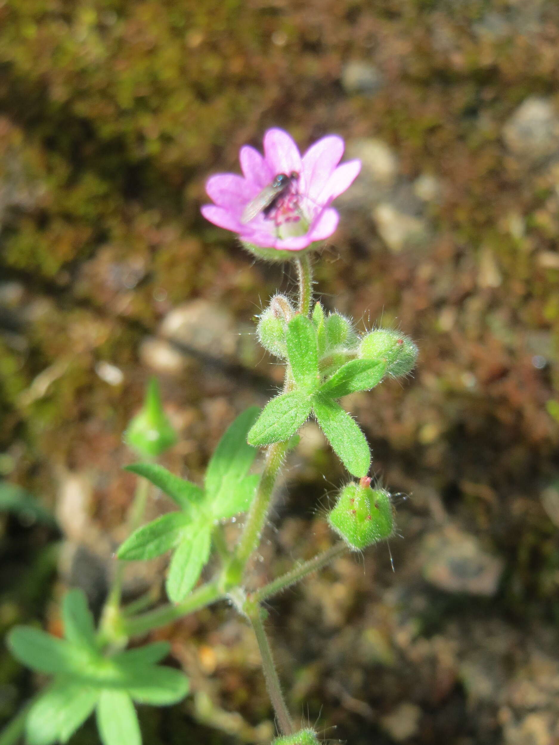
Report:
M268 402L248 433L249 443L262 447L289 440L306 422L311 408L309 396L298 390L276 396Z

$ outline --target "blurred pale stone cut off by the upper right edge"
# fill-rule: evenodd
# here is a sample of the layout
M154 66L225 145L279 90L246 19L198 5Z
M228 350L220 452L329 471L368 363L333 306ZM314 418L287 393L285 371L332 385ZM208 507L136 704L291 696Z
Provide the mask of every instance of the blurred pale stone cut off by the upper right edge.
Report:
M537 162L549 158L559 150L558 112L546 98L526 98L503 127L502 136L520 159Z

